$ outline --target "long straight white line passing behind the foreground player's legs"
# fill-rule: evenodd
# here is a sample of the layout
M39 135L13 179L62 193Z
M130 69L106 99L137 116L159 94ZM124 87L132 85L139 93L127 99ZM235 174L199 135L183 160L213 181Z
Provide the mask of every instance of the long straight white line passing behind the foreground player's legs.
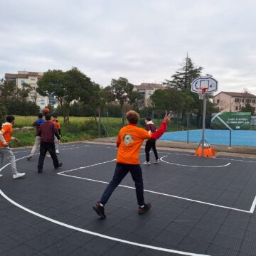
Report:
M62 174L62 173L58 173L58 175L67 176L67 177L70 177L70 178L79 178L79 179L82 179L82 180L85 180L85 181L94 181L94 182L105 183L105 184L109 183L107 181L97 181L97 180L92 179L92 178L82 178L82 177L79 177L79 176L73 176L73 175ZM118 186L120 186L122 188L135 189L132 186L124 186L124 185L118 185ZM243 212L243 213L253 213L253 211L254 211L254 209L251 212L251 210L248 211L248 210L242 210L242 209L232 208L232 207L228 207L228 206L220 206L220 205L217 205L215 203L207 203L207 202L203 202L203 201L193 200L193 199L190 199L190 198L184 198L184 197L181 197L181 196L174 196L174 195L170 195L170 194L167 194L167 193L160 193L160 192L156 192L156 191L150 191L150 190L147 190L147 189L144 189L144 192L154 193L154 194L161 195L161 196L168 196L168 197L171 197L171 198L178 198L178 199L191 201L191 202L195 202L195 203L202 203L202 204L205 204L205 205L208 205L208 206L215 206L215 207L218 207L218 208L225 208L225 209L229 209L229 210L238 210L238 211ZM256 201L255 201L255 204L256 204Z

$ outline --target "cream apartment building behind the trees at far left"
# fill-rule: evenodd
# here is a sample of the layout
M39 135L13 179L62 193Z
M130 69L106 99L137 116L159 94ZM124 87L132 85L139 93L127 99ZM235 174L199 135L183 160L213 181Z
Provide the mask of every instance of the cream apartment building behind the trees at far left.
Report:
M40 107L41 110L47 105L53 105L54 108L58 106L58 101L54 97L43 97L36 92L38 79L41 78L43 73L29 72L29 71L18 71L17 74L6 73L4 78L8 81L13 81L16 83L17 88L21 89L24 83L31 85L33 91L29 95L28 100L36 102L36 105Z

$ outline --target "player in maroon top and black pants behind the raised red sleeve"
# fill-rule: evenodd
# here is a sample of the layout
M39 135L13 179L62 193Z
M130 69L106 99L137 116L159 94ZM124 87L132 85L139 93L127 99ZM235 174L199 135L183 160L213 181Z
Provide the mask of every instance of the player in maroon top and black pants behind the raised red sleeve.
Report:
M151 131L151 132L156 132L156 127L154 125L154 123L152 122L151 117L146 117L145 119L145 124L146 124L146 131ZM146 154L146 161L144 161L144 165L149 165L150 164L150 160L149 160L149 152L150 150L153 149L154 151L154 155L155 155L155 161L154 164L158 164L159 163L159 157L156 151L156 139L148 139L146 141L146 146L145 146L145 154Z

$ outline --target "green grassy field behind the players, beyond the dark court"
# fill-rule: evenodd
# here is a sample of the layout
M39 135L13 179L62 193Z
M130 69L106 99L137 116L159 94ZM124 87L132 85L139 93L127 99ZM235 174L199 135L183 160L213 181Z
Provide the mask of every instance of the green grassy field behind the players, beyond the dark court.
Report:
M15 116L14 127L31 127L37 117L35 116ZM63 123L63 117L58 118L60 122L60 129L62 137L61 142L78 142L86 139L95 139L98 137L98 124L95 123L94 117L70 117L70 124ZM102 123L105 125L110 137L117 136L119 129L122 128L122 118L102 117ZM159 127L160 121L154 119L154 124ZM139 127L144 127L143 120L139 122ZM176 131L177 124L175 120L171 120L167 132ZM14 137L21 140L20 143L11 142L12 146L32 146L36 136L36 129L34 131L18 131L14 132ZM105 130L101 125L100 137L106 137Z

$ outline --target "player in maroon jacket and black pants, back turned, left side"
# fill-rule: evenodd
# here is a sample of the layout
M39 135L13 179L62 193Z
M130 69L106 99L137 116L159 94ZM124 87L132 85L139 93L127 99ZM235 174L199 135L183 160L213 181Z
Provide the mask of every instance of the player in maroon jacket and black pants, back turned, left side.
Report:
M41 124L39 128L38 135L41 137L40 142L40 156L38 160L38 173L43 172L43 161L46 157L46 152L50 153L51 158L53 159L53 166L55 169L62 166L62 163L59 163L57 154L55 152L54 136L57 137L58 141L60 136L54 122L51 122L50 114L46 114L46 122Z

